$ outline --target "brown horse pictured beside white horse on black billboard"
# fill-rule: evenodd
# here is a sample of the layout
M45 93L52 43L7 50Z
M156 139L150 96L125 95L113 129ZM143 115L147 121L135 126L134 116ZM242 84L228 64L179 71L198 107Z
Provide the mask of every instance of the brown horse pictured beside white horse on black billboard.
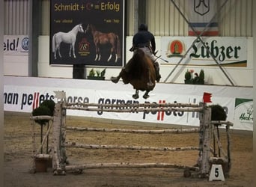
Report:
M118 58L121 58L120 39L118 37L118 34L115 34L113 32L103 33L103 32L97 31L95 26L92 24L87 25L85 29L85 34L88 31L91 31L91 34L94 37L94 45L95 45L95 51L96 51L96 56L94 61L100 61L100 58L101 58L100 46L107 45L107 44L111 45L108 61L111 60L113 53L115 53L115 62L118 61Z

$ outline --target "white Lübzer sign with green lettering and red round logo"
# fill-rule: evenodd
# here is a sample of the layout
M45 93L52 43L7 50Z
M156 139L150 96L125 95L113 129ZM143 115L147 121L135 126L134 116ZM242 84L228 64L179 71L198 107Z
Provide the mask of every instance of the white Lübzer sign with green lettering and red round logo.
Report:
M183 62L189 65L247 67L246 37L202 37L194 42L195 37L162 37L162 58L170 64L177 64L180 58L188 54ZM214 59L216 61L214 61ZM184 63L180 63L181 65Z

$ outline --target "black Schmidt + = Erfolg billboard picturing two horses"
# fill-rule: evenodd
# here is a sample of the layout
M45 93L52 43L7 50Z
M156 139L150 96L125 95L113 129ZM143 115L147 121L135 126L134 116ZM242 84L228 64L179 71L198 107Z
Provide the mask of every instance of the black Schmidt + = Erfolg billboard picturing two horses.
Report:
M124 0L51 1L50 64L122 67Z

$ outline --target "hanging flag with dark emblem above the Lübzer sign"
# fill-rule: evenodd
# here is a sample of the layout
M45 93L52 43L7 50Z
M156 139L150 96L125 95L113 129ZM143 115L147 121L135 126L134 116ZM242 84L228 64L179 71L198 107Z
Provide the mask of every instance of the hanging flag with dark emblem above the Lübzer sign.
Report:
M201 34L201 36L218 36L219 28L216 17L217 3L216 0L189 0L189 36ZM212 20L213 19L213 20ZM192 30L194 28L195 32Z

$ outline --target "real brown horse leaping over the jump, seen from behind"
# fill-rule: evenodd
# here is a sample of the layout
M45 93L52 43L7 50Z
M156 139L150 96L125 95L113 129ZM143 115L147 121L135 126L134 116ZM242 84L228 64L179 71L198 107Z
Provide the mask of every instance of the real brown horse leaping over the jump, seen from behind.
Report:
M146 91L143 98L149 97L148 93L153 91L156 85L156 73L151 59L141 50L135 49L132 58L122 68L117 77L112 76L111 81L118 83L123 79L124 84L130 83L135 89L133 99L138 99L138 91Z

